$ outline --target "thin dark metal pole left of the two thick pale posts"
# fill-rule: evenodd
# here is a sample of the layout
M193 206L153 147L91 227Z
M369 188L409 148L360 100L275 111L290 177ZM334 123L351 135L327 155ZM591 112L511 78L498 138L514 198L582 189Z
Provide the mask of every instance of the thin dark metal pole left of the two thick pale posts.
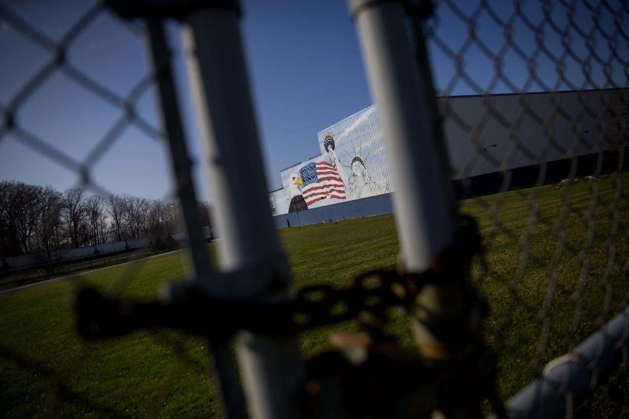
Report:
M170 163L177 187L177 197L182 208L182 221L189 242L189 258L198 280L208 280L211 273L208 248L201 231L201 218L192 181L192 162L189 158L184 132L177 107L177 95L170 68L170 53L162 21L147 19L148 43L157 90L162 109L162 121L168 133ZM213 319L207 319L212 321ZM245 401L238 384L235 367L231 361L228 342L212 342L210 347L214 358L214 369L218 374L218 388L223 396L226 416L242 417L245 414Z

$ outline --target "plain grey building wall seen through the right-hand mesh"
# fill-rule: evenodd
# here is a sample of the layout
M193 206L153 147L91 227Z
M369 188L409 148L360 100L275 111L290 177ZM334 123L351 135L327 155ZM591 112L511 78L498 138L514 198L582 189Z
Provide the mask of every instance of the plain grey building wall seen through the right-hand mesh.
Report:
M452 178L609 150L596 124L596 117L606 114L600 95L600 90L491 95L491 106L482 96L438 99Z

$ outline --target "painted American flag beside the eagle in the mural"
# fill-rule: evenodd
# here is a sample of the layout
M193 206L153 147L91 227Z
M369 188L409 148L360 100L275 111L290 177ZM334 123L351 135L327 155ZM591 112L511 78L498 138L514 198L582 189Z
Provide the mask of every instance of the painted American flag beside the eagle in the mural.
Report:
M308 206L322 199L347 199L345 185L337 169L327 161L308 163L299 169L303 195Z

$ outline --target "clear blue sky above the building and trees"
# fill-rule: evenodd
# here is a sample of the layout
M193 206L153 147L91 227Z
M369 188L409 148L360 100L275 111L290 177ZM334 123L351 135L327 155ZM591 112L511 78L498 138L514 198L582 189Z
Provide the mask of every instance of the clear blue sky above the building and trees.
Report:
M247 54L254 106L262 138L269 190L281 186L279 171L320 151L316 133L341 119L369 106L370 99L355 28L345 1L286 0L243 1L243 39ZM460 12L470 16L477 2L460 1ZM514 13L510 2L491 1L499 19L507 21ZM21 16L54 41L59 41L70 26L91 6L89 1L6 0L4 6ZM610 1L620 8L621 1ZM613 15L606 9L599 13L600 29L593 31L591 45L577 33L588 34L594 28L596 13L577 2L574 25L569 24L565 9L553 4L547 11L555 26L543 24L543 42L525 24L525 18L538 26L544 20L542 5L536 0L524 2L522 16L513 23L513 42L526 53L534 55L538 80L530 80L527 63L509 46L503 53L503 72L519 89L593 89L627 85L618 58L627 62L629 45L616 36L618 45L610 48L601 30L613 35L617 28ZM429 50L437 90L461 95L513 92L502 81L493 83L494 62L482 49L471 43L469 26L457 11L440 2L438 19L433 21L440 40L456 53L461 53L469 80L457 77L452 57L431 41ZM620 28L629 34L629 19ZM493 53L504 46L506 38L501 25L487 11L476 15L477 35ZM565 55L562 37L555 29L570 30L564 42L571 45L574 58ZM178 57L181 52L177 24L168 26L175 52L175 72L179 86L184 128L194 158L198 158L198 133L194 112L187 92L186 71ZM464 49L461 49L464 48ZM603 73L603 61L611 59L611 80ZM618 57L615 57L615 55ZM562 54L564 56L562 57ZM91 75L118 95L126 96L147 72L140 26L121 24L109 13L101 13L70 45L67 59L72 65ZM590 68L584 72L577 60L588 56ZM15 95L52 59L52 53L36 45L12 28L0 16L0 106L4 109ZM565 79L557 72L552 57L563 58ZM576 59L575 59L576 58ZM626 70L625 70L626 71ZM590 80L587 80L586 74ZM136 109L144 119L159 126L152 92L141 95ZM123 116L121 109L111 106L56 70L16 111L18 125L70 156L83 161L89 156L111 126ZM90 166L94 181L109 192L162 198L172 190L164 144L131 125L120 139ZM211 200L211 191L198 175L199 196ZM0 180L19 180L38 185L53 185L59 190L79 182L74 170L68 170L48 156L26 146L14 134L0 138Z

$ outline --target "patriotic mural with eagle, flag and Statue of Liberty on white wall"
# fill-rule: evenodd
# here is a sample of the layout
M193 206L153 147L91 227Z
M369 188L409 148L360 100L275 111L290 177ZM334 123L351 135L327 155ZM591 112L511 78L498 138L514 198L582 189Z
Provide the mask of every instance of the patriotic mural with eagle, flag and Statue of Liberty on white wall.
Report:
M276 214L298 212L392 192L376 107L318 134L321 155L281 171Z

